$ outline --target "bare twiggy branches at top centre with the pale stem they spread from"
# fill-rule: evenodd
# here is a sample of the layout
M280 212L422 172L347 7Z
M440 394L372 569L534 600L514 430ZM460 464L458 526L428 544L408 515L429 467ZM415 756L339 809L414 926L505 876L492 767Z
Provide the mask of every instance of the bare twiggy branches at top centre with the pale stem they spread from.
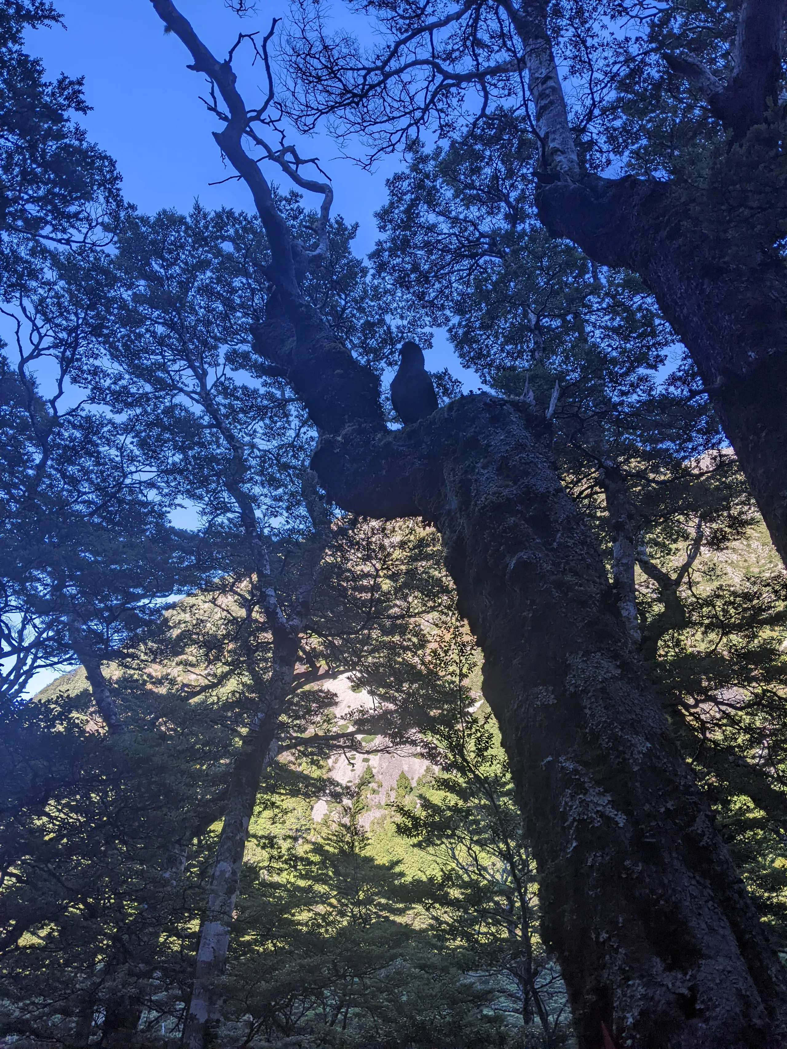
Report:
M311 130L323 117L338 119L344 133L380 144L374 157L429 123L452 134L451 111L468 90L476 94L475 116L493 100L515 95L515 108L532 103L544 168L558 177L578 172L543 0L465 0L434 17L425 6L396 15L376 6L390 41L365 52L346 34L329 35L317 4L298 0L290 64L299 126Z

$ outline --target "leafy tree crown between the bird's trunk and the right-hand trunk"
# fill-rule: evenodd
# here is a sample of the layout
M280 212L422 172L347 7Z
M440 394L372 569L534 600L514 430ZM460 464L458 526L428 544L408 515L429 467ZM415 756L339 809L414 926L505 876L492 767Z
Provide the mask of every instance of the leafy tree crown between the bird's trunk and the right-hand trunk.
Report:
M674 363L636 275L594 265L540 226L523 116L496 109L449 147L411 154L378 214L380 280L448 327L465 367L551 415L558 473L602 541L632 640L655 658L635 579L652 527L672 521L679 542L702 518L718 545L751 512L697 372Z

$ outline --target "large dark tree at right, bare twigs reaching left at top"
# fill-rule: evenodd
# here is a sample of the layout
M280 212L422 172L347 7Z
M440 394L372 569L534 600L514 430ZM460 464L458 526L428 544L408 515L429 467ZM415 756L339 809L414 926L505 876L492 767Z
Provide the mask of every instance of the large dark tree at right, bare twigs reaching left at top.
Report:
M365 136L373 156L422 132L453 136L495 104L526 112L544 226L642 278L694 359L783 560L785 9L370 3L381 39L364 49L319 4L299 2L283 103L305 130L328 117Z

